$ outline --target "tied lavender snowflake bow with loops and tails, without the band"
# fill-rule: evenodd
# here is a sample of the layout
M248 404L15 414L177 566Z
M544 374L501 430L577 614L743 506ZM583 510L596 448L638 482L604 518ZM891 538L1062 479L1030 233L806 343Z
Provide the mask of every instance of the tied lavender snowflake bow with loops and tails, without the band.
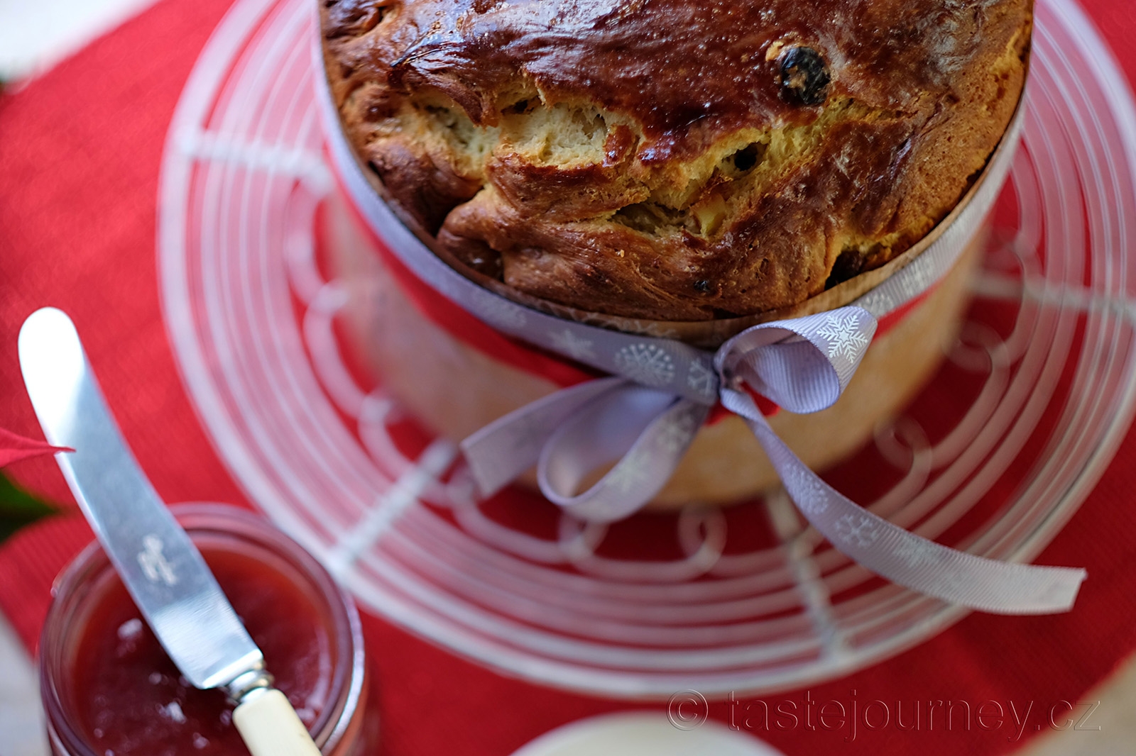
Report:
M1084 570L1012 564L942 546L837 493L772 431L753 400L794 413L832 406L876 331L858 306L754 326L713 355L711 390L677 395L645 383L642 364L566 388L486 426L461 444L484 496L534 464L549 501L592 521L641 509L662 489L715 398L753 431L804 518L837 549L888 580L952 604L1000 614L1068 611ZM576 493L604 465L615 465Z

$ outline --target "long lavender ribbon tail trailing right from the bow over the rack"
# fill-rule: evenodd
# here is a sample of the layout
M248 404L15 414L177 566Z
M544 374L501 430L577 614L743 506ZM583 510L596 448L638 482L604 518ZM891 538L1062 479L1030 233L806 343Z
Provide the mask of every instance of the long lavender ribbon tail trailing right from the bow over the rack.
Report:
M999 562L909 532L825 484L777 437L747 395L724 390L722 403L749 423L805 519L860 565L920 594L982 612L1053 614L1072 608L1085 570Z

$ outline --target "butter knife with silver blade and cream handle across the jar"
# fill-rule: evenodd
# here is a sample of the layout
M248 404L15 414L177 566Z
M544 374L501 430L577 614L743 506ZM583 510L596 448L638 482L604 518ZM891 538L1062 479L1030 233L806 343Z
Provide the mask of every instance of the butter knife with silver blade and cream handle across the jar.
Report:
M19 363L75 499L142 615L182 674L220 688L253 756L319 756L264 654L189 535L126 446L75 326L60 310L34 312L19 331Z

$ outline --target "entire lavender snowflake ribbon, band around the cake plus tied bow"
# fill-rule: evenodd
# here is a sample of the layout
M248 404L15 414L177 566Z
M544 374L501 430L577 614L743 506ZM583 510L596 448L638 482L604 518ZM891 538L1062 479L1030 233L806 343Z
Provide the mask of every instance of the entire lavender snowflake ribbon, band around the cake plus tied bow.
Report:
M967 247L993 208L1021 132L1024 107L982 185L942 236L852 306L754 326L717 353L677 341L556 318L501 297L435 257L370 186L323 99L339 175L373 230L419 278L511 336L598 368L609 378L560 390L461 444L490 496L532 467L549 501L591 521L641 509L662 489L718 401L745 420L808 521L864 568L928 596L1000 614L1071 608L1084 570L1012 564L959 552L899 528L825 484L777 437L746 387L795 413L830 406L871 343L876 319L926 292ZM604 465L615 463L600 474ZM599 476L583 493L590 478Z

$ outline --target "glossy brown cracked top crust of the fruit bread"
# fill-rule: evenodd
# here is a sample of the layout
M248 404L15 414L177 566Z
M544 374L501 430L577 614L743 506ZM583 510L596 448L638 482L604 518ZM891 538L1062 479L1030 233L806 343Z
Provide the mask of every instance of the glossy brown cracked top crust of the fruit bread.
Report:
M344 131L444 259L709 320L930 230L997 145L1031 0L320 0ZM483 278L484 280L484 278Z

